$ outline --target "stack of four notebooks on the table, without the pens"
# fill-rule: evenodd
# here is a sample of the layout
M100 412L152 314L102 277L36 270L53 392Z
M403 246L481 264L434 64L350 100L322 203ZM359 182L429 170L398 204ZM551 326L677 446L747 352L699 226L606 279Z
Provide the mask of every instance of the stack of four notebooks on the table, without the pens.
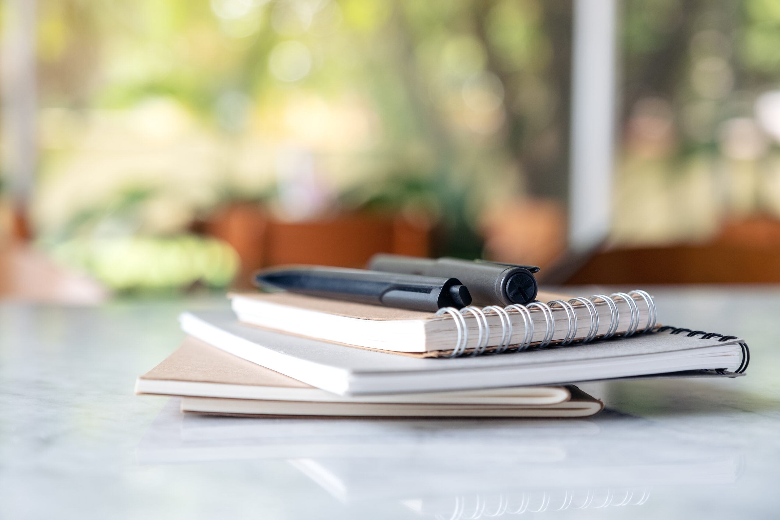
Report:
M603 405L577 382L736 377L748 363L739 338L656 324L643 291L537 299L427 313L232 295L233 312L183 313L186 341L136 391L231 416L581 417Z

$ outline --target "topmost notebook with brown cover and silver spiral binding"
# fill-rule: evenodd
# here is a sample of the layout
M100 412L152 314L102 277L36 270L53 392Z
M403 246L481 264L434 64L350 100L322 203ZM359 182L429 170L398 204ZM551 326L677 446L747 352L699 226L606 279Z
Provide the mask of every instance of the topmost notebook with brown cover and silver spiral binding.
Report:
M539 292L540 301L527 306L447 307L438 313L286 292L231 298L232 309L245 324L416 357L589 343L649 332L656 326L653 299L639 290L590 298Z

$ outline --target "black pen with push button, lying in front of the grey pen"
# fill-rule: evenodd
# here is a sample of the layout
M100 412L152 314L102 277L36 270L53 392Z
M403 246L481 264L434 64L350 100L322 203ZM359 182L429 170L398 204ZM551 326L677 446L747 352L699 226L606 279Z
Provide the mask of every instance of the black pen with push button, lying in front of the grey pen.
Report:
M412 310L435 312L441 307L460 309L471 303L469 290L457 278L417 274L289 265L258 271L254 282L261 288Z

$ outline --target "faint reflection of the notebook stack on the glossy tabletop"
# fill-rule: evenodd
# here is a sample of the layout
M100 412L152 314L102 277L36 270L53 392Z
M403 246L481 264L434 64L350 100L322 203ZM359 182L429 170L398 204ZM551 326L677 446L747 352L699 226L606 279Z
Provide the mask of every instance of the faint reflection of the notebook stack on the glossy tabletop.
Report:
M144 464L284 458L332 496L440 520L636 507L654 486L733 483L739 451L647 419L250 419L165 405Z

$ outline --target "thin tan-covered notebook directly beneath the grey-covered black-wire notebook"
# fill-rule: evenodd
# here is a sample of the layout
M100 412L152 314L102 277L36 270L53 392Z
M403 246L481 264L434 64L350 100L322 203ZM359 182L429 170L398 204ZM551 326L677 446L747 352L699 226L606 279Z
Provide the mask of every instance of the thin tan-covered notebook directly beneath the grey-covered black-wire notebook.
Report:
M564 405L571 394L566 387L510 387L488 390L449 391L427 394L394 394L343 397L320 390L233 356L219 348L207 345L196 338L186 338L179 348L158 366L136 381L137 394L164 394L195 396L189 405L201 407L225 406L236 408L233 399L253 400L253 410L267 409L275 415L402 415L438 416L438 405L463 407L464 410L480 407L516 408L519 406L549 407ZM213 401L215 398L215 402ZM258 401L261 400L261 401ZM293 401L293 402L291 402ZM243 405L249 405L246 401ZM209 404L204 404L209 403ZM258 404L260 403L260 404ZM326 405L326 403L329 403ZM377 408L377 406L379 408ZM592 406L592 405L591 405ZM384 408L382 408L384 407ZM566 408L566 406L565 406ZM306 412L306 413L303 413ZM469 415L478 415L469 412Z

